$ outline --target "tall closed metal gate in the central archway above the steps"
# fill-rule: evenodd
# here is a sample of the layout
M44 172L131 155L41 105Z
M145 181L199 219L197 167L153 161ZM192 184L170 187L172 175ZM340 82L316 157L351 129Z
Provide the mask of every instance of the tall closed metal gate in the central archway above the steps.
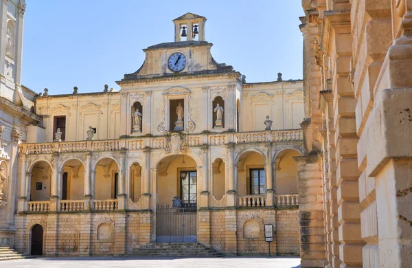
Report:
M156 218L158 243L197 242L196 203L183 203L179 208L157 204Z

